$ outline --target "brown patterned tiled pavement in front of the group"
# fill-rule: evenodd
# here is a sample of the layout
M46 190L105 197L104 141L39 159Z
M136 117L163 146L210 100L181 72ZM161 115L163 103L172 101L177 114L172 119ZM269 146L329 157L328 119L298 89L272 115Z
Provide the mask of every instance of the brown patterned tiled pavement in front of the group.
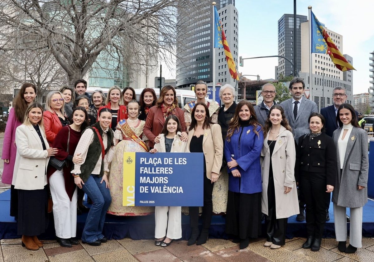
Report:
M0 133L0 148L3 133ZM1 150L0 150L1 152ZM3 161L0 161L0 177ZM0 192L9 185L0 183ZM21 246L21 239L1 240L0 262L373 262L374 238L364 238L362 248L355 254L337 250L335 239L322 240L319 252L302 249L304 238L286 240L277 250L264 247L264 239L258 238L249 247L239 246L229 240L209 239L202 246L187 246L187 241L175 241L168 247L154 246L153 240L109 240L99 247L78 244L71 248L60 247L56 241L45 240L44 247L30 251Z

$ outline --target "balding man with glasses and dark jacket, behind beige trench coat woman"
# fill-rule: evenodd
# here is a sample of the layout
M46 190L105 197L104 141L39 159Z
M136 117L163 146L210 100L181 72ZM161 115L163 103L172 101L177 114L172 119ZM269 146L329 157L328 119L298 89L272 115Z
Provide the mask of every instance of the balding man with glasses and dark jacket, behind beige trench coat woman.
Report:
M275 87L273 84L267 83L263 85L261 95L263 96L264 100L261 102L261 104L254 107L258 123L260 123L261 126L264 126L269 115L270 108L277 104L274 101L275 93Z

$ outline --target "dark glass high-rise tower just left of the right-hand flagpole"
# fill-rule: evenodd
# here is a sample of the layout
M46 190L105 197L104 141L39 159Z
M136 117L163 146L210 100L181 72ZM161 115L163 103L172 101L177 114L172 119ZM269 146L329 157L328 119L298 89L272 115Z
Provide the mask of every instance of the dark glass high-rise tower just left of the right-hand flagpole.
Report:
M294 32L294 15L284 14L281 19L278 20L278 55L285 56L291 62L294 63L294 48L296 49L296 68L300 71L301 68L301 30L300 23L308 21L305 15L296 15L296 32ZM295 42L296 36L296 42ZM283 76L293 75L294 68L292 65L284 58L278 58L278 75Z

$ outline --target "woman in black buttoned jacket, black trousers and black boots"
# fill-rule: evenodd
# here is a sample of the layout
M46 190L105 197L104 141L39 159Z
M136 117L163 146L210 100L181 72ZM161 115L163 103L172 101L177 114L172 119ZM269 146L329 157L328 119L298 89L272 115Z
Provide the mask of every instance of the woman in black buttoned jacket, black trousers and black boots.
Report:
M337 175L334 140L324 133L325 118L313 112L310 133L301 136L296 153L295 178L306 203L307 240L304 249L318 251L326 223L326 209Z

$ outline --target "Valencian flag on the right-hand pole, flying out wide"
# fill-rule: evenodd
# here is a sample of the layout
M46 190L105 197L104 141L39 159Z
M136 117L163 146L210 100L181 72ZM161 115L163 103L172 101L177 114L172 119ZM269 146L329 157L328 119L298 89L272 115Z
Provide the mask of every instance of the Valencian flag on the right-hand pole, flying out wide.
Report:
M335 67L340 71L356 70L351 64L344 58L342 53L334 44L331 37L328 35L324 26L318 21L314 13L312 12L312 53L324 53L328 54L331 61L335 64Z

